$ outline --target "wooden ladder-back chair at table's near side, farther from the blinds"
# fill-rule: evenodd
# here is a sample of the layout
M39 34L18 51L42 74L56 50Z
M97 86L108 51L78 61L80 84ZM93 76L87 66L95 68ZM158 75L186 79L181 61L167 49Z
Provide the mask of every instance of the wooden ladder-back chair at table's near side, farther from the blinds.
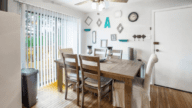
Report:
M112 79L101 76L99 57L79 55L82 74L82 104L84 107L85 90L98 94L98 108L101 105L101 99L109 93L112 100ZM87 79L84 79L87 77ZM106 92L105 92L106 91Z

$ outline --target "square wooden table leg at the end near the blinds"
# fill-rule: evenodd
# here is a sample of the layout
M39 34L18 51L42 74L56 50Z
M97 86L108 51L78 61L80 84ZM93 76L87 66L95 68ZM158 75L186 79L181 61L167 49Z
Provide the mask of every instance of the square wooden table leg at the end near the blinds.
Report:
M62 92L62 85L63 85L63 67L60 66L59 63L57 65L57 86L58 86L58 91Z

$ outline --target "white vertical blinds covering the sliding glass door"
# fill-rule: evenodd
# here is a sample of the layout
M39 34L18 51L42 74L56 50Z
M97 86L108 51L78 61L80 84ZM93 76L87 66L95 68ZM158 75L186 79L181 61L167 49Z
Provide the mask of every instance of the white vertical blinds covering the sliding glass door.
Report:
M36 68L38 87L56 81L59 49L73 48L78 53L78 19L31 5L25 8L26 67Z

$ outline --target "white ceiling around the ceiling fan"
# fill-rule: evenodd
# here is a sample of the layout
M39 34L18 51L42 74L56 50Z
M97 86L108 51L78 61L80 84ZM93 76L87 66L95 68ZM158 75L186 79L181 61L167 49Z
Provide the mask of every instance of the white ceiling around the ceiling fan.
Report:
M86 4L82 4L82 5L75 5L76 3L79 2L83 2L86 0L43 0L44 2L51 2L54 1L55 4L60 4L72 9L76 9L76 10L80 10L82 12L85 13L90 13L90 12L96 12L98 10L93 10L91 7L91 1L86 3ZM136 0L137 1L137 0ZM114 8L114 7L118 7L118 6L125 6L127 3L117 3L117 2L109 2L109 8Z

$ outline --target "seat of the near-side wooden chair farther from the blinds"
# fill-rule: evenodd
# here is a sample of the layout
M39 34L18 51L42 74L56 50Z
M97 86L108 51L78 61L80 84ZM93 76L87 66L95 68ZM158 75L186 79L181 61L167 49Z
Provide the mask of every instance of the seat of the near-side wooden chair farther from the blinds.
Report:
M105 85L109 84L112 79L111 78L106 78L106 77L100 77L101 78L101 87L104 87ZM87 78L85 79L85 84L93 86L93 87L98 87L98 80L92 79L92 78Z

